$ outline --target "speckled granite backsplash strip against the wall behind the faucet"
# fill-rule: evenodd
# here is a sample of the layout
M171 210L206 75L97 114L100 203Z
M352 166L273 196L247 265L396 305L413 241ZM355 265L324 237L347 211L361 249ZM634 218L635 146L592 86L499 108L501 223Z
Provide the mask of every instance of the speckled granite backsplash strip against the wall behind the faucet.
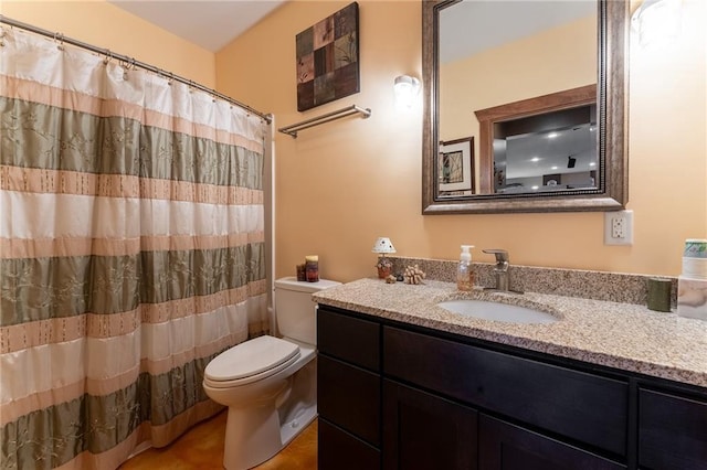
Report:
M393 273L402 273L405 266L418 265L428 279L456 281L457 261L393 257ZM474 263L476 284L495 286L494 265ZM648 279L656 276L620 273L590 271L581 269L542 268L514 265L509 268L510 288L523 292L552 293L583 299L609 300L611 302L646 305ZM676 308L677 278L661 276L673 284L671 305Z

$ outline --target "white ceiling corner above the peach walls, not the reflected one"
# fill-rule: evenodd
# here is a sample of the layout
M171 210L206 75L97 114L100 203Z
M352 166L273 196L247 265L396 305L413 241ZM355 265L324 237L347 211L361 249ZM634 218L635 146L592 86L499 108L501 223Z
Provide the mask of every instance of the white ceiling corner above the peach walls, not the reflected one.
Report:
M218 52L286 0L108 0L208 51Z

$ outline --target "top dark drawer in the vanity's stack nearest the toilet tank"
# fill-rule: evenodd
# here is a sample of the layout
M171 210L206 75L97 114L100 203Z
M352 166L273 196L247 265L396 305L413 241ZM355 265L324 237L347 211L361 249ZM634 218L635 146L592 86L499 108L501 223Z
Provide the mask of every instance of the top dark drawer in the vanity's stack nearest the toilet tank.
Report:
M371 371L379 371L380 324L319 307L317 348L321 353Z

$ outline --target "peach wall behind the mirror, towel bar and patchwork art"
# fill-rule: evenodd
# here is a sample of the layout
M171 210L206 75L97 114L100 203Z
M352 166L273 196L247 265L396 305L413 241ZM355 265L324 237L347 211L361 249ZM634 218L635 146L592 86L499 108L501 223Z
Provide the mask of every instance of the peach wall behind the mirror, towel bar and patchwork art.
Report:
M348 2L289 2L217 54L218 86L282 127L349 104L372 108L276 135L276 276L307 254L338 280L373 275L377 236L401 256L456 259L458 245L500 247L530 266L678 275L682 245L707 236L705 2L686 0L682 36L664 52L634 47L630 202L633 246L604 246L602 213L421 215L421 109L399 113L392 82L421 76L419 2L359 0L361 92L296 111L295 35ZM520 79L520 77L519 77Z

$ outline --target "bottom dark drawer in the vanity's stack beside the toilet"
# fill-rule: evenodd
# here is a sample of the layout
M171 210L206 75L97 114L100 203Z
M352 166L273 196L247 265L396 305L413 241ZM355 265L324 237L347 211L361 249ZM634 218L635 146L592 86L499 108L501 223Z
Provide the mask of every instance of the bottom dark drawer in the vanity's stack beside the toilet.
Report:
M380 451L350 434L319 419L317 425L318 470L380 469Z

